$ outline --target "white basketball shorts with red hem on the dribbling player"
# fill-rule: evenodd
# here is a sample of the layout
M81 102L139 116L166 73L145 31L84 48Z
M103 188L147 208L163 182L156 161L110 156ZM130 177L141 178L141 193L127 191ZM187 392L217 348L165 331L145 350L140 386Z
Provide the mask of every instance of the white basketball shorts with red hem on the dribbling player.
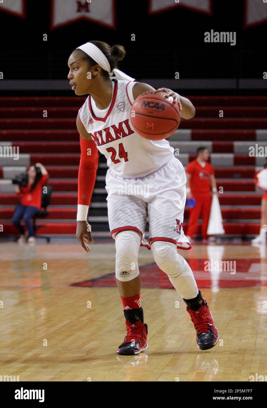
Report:
M186 176L181 162L172 157L165 166L144 177L119 177L108 169L108 223L111 239L119 231L139 232L141 246L150 249L153 241L167 241L177 248L191 249L183 233ZM149 243L144 239L149 223Z

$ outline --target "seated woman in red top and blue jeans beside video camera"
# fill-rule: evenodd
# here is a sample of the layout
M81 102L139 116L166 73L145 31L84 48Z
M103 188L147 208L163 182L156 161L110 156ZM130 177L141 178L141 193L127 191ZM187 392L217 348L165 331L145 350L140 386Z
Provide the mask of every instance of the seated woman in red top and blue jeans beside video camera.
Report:
M28 170L28 185L26 187L16 186L16 194L20 195L22 193L22 197L12 217L12 222L21 234L18 239L19 244L24 243L26 238L24 227L20 224L21 220L24 221L29 232L27 242L29 244L35 243L31 219L41 208L42 185L47 179L48 173L46 168L41 163L36 163L35 166L31 166Z

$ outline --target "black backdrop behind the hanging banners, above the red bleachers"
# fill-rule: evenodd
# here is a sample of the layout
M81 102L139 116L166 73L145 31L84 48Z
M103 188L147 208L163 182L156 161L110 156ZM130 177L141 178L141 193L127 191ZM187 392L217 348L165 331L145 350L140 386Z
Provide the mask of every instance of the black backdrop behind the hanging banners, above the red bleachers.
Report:
M82 20L50 31L50 1L27 0L26 19L0 12L0 71L6 79L64 79L71 51L102 40L124 45L120 68L137 80L174 78L176 71L180 78L262 78L267 24L244 30L243 0L214 0L213 11L207 16L177 8L148 15L147 0L117 0L116 30ZM236 45L205 43L211 29L236 31Z

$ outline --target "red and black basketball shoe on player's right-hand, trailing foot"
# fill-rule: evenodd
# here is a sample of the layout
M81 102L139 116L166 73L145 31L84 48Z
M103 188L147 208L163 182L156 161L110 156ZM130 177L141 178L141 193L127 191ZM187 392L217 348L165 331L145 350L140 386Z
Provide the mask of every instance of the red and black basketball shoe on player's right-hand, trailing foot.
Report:
M196 330L196 344L201 350L208 350L215 346L218 341L218 330L214 325L212 314L205 299L199 309L193 310L186 306L190 314L191 322Z

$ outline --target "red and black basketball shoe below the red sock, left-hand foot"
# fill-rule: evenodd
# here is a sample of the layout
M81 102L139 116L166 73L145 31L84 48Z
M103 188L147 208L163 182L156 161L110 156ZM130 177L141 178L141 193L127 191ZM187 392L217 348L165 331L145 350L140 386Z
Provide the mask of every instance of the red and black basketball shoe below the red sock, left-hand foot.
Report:
M148 325L138 320L130 323L126 320L127 335L124 342L118 347L117 353L123 355L135 355L148 349L147 335Z

